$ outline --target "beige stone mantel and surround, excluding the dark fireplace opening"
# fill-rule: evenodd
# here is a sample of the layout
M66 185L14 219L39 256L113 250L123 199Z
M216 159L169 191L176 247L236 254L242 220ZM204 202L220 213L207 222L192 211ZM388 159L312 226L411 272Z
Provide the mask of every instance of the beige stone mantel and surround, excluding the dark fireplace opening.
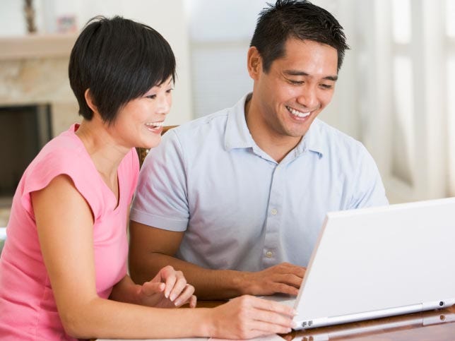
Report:
M76 34L0 37L0 107L50 104L52 135L80 121L69 86Z

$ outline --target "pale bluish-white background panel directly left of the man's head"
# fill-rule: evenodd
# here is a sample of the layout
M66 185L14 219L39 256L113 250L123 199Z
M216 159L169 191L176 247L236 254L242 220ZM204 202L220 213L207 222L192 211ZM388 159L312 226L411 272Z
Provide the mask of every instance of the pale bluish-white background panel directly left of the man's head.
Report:
M194 116L232 107L252 90L247 50L264 0L187 0Z

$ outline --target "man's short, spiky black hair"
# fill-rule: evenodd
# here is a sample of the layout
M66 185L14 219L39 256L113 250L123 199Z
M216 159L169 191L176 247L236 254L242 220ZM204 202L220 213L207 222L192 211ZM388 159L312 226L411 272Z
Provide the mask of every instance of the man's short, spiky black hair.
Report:
M275 59L285 55L285 42L293 37L327 44L338 52L338 71L343 64L346 37L331 13L306 0L278 0L259 13L250 46L256 47L268 72Z

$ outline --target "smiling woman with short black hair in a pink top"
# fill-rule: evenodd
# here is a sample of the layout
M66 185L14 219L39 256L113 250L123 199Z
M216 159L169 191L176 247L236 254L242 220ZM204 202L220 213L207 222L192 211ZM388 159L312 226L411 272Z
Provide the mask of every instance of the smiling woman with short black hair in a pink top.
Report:
M292 309L254 297L215 309L157 309L196 306L194 287L171 267L143 285L126 274L134 147L160 142L174 79L172 50L152 28L98 17L81 32L69 80L83 120L42 148L13 198L0 259L2 340L290 330Z

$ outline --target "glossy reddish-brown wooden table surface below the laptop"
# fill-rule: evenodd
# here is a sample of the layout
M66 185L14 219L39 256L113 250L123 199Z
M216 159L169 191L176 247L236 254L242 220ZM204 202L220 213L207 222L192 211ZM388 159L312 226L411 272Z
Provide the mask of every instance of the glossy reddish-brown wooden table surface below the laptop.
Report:
M199 307L214 307L222 301L199 301ZM331 327L293 331L280 335L285 340L455 340L455 306L375 320L345 323Z

